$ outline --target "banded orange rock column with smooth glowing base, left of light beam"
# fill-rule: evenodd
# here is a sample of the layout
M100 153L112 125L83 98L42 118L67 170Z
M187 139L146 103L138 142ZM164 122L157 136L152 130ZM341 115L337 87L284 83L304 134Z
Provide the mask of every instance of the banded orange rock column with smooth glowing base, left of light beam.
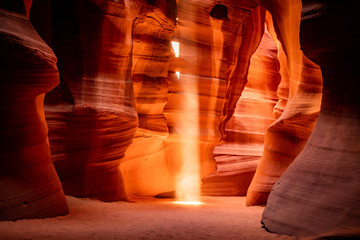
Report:
M138 1L138 4L138 8L131 9L134 15L132 76L139 128L121 171L130 195L154 196L174 191L173 167L169 164L172 156L165 153L168 127L164 106L176 1L152 1L150 4Z

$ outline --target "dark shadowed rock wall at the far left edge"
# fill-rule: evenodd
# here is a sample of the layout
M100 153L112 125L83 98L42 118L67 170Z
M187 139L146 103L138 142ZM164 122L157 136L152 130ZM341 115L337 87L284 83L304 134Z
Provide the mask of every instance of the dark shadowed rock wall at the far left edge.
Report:
M0 23L0 220L65 215L43 110L45 93L59 82L56 57L22 1L2 1Z

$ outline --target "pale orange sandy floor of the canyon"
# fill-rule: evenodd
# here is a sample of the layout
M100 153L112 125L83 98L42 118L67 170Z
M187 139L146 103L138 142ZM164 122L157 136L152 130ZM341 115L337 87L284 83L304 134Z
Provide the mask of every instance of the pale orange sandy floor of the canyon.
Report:
M243 197L204 197L200 206L168 199L67 200L64 217L0 222L0 239L295 239L261 228L264 208L244 207Z

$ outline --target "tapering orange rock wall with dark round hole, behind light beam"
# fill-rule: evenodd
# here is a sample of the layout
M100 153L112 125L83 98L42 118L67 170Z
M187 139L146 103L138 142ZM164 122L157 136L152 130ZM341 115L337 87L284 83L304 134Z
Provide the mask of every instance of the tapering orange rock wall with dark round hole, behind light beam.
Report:
M244 23L255 7L252 2L242 1L178 2L173 41L179 43L180 52L179 57L172 56L168 103L164 109L170 132L167 154L181 163L176 169L177 191L194 183L200 187L199 179L187 178L186 172L200 171L199 178L203 178L215 171L213 150L222 137L219 126L226 98L232 94L230 81L234 82L230 78L235 78L232 74L239 60ZM253 25L262 14L261 10L256 11ZM249 28L255 28L253 25ZM249 58L250 55L245 56ZM185 154L178 153L178 141L184 142L180 149ZM199 169L193 164L199 164ZM177 196L186 198L186 194Z

